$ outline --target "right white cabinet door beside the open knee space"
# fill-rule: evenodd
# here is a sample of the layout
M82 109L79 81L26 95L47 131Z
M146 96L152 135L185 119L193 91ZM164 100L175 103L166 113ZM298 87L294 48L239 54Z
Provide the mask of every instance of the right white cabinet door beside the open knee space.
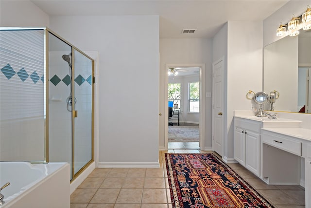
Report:
M260 135L245 132L245 168L260 176Z

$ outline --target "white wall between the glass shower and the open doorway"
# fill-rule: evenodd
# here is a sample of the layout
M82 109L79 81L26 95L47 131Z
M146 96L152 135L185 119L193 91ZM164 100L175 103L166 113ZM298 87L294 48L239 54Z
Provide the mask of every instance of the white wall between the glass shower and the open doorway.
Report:
M52 16L50 28L99 51L99 166L158 164L159 17Z

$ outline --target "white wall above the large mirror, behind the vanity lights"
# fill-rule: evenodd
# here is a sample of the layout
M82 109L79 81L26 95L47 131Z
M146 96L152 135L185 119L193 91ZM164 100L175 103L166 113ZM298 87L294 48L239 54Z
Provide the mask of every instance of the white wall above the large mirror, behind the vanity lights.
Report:
M293 14L295 17L299 17L307 10L307 5L310 4L310 0L290 0L267 19L263 20L263 46L283 38L276 36L276 29L279 27L280 22L287 24L292 19Z

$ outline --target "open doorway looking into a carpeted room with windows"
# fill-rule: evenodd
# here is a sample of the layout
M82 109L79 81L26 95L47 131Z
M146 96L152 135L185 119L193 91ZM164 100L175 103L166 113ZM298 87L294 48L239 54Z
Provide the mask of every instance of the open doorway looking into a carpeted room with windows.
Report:
M165 144L171 149L204 147L204 64L166 64Z

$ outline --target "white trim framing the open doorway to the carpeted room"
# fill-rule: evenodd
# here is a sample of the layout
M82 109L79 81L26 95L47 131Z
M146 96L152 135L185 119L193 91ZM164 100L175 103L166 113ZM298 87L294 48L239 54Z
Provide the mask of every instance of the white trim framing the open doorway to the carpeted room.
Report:
M204 63L188 63L188 64L165 64L165 72L168 71L170 67L200 67L200 149L203 150L205 146L205 64ZM168 103L168 74L165 73L165 104ZM166 106L165 105L165 106ZM165 124L168 124L169 109L165 108L164 111ZM169 126L165 125L165 150L168 150L169 143Z

